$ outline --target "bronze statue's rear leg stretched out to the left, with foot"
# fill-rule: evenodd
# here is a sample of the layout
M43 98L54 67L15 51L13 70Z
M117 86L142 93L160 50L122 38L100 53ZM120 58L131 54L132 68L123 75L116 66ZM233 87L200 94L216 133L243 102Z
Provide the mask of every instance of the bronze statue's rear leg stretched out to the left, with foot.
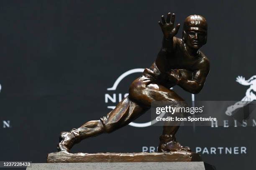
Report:
M72 146L81 140L99 135L101 133L111 133L118 128L128 125L131 121L142 115L148 110L148 107L141 107L133 102L129 97L125 97L114 110L109 112L100 120L86 122L78 129L72 129L70 132L62 132L59 151L69 152Z

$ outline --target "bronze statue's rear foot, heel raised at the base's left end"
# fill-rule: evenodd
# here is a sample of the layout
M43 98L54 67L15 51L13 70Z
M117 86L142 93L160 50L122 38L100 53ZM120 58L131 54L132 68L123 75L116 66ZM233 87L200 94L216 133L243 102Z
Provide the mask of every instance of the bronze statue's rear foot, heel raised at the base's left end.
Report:
M77 129L72 129L70 132L61 132L59 137L58 152L70 152L70 149L75 143L79 143L80 135Z

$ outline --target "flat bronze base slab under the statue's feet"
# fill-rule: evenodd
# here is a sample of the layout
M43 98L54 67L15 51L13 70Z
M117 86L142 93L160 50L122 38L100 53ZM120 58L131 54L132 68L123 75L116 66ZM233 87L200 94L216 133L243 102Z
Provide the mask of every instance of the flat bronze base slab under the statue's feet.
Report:
M49 153L47 163L125 163L125 162L194 162L201 161L198 153Z

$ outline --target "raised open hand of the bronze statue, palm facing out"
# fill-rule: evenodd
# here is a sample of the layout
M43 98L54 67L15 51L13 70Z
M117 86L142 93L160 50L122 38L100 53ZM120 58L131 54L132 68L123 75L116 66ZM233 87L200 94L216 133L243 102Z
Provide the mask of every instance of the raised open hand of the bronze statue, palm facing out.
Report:
M179 26L180 26L180 24L178 24L174 28L175 14L172 14L172 17L171 17L171 13L168 13L166 20L164 19L164 15L162 15L161 19L162 19L162 23L160 21L158 21L158 23L162 29L164 37L166 37L166 38L174 37L177 34L177 32L179 30Z

